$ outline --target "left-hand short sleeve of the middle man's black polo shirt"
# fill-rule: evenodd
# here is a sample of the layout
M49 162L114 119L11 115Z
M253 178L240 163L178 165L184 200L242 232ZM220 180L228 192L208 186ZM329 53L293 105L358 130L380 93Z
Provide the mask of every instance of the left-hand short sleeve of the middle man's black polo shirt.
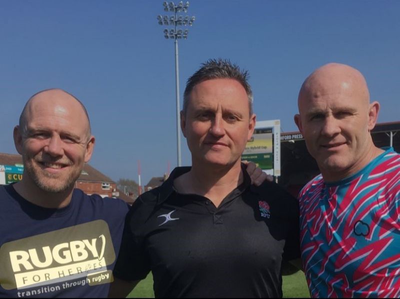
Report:
M113 271L113 275L121 280L142 280L150 272L149 259L144 247L143 208L139 197L126 215L121 247Z

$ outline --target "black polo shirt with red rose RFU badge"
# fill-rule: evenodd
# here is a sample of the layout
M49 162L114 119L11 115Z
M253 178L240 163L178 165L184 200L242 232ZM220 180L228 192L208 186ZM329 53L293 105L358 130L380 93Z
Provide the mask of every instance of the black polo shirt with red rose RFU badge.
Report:
M179 194L175 168L126 216L114 275L153 274L155 297L281 297L281 262L299 257L297 200L275 183L243 183L218 208Z

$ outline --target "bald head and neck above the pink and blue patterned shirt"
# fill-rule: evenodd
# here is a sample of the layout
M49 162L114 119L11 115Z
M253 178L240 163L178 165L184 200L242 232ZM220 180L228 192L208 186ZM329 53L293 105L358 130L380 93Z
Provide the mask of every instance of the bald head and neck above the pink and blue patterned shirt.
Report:
M370 135L379 103L369 103L355 68L329 63L315 70L298 93L298 111L294 121L325 181L354 174L380 153Z

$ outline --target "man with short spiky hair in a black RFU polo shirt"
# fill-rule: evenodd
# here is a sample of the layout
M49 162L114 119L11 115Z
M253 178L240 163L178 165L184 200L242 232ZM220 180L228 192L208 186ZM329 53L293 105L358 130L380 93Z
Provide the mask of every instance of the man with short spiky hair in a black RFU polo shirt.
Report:
M250 184L240 155L254 125L247 72L209 60L188 79L181 128L192 167L133 204L111 296L149 271L155 297L282 296L282 259L299 253L298 207L276 184Z

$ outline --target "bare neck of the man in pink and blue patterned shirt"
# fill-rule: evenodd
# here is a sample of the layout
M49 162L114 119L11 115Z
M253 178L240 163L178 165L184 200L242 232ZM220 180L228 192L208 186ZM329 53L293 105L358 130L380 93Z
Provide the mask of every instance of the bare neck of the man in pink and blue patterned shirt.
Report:
M383 152L384 152L384 150L374 146L371 141L368 144L368 146L365 147L365 151L364 151L364 154L361 155L361 159L359 159L356 163L351 165L349 168L344 169L344 170L339 170L339 171L332 171L329 169L320 168L322 178L327 183L337 182L337 181L343 180L345 178L348 178L348 177L356 174L358 171L360 171L362 168L364 168L366 165L368 165L369 162L371 162L373 159L375 159L377 156L379 156Z

